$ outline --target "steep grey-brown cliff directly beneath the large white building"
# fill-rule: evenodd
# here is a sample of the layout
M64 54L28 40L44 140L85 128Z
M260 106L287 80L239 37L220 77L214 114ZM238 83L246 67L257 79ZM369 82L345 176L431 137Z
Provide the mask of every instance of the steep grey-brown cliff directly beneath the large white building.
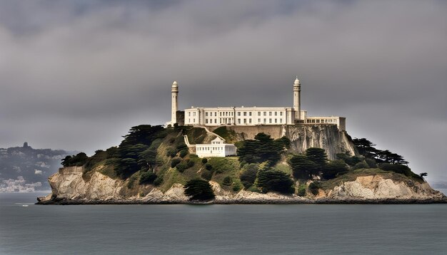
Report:
M214 128L211 127L212 131ZM265 125L265 126L228 126L228 130L236 132L238 140L254 139L255 135L263 132L273 139L286 136L291 140L291 149L298 153L310 147L319 147L326 150L330 160L336 159L337 153L358 155L351 137L339 131L336 125Z

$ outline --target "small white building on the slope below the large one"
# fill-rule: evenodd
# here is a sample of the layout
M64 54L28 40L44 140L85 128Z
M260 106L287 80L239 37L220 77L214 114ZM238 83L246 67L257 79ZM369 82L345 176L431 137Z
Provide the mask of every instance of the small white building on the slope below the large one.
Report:
M199 157L226 157L236 155L237 148L233 144L224 143L220 137L209 143L201 143L196 145L196 155Z

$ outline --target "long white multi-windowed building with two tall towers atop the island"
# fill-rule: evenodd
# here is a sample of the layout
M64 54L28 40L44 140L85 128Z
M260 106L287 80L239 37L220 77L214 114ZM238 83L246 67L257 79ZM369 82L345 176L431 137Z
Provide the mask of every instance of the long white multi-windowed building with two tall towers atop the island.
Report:
M171 87L171 123L178 123L179 85L176 81ZM298 77L293 82L293 107L191 107L184 111L184 125L295 125L332 124L339 130L346 130L346 118L308 117L306 110L301 110L301 83Z

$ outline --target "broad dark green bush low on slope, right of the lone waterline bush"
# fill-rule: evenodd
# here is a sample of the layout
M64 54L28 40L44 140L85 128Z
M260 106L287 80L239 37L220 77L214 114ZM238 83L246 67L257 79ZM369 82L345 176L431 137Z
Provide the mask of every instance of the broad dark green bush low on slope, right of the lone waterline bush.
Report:
M258 171L258 187L263 192L274 191L284 194L293 194L295 192L290 175L275 170Z

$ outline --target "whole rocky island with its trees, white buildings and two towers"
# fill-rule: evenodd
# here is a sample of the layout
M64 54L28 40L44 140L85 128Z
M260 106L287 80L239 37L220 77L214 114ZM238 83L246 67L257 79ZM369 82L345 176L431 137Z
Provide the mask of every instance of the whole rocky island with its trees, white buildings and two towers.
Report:
M118 147L66 156L38 204L444 203L401 155L352 139L346 118L293 107L191 107Z

